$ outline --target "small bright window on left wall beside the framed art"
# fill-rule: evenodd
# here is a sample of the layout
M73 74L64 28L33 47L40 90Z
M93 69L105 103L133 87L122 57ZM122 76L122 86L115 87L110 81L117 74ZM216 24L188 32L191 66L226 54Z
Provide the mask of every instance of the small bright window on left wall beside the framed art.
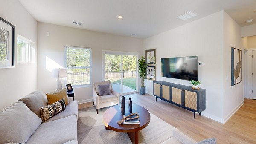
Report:
M35 63L35 43L18 35L18 63Z

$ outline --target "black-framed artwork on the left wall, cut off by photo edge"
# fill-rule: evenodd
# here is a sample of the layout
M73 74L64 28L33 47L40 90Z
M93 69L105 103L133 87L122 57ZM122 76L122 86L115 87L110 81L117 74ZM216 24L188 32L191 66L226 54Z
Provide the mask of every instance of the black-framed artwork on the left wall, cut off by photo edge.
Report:
M0 69L14 67L15 26L0 17Z

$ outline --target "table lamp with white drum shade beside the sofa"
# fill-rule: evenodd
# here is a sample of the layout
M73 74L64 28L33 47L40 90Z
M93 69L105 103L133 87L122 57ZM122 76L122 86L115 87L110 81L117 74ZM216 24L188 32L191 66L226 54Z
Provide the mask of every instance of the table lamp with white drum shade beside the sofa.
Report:
M61 78L67 77L67 69L52 69L52 78L58 78L57 89L62 89Z

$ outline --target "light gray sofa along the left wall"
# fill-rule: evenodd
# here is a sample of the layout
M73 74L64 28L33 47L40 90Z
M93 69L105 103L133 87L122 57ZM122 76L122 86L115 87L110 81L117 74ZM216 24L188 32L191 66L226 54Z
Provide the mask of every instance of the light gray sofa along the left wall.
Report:
M0 144L77 144L77 101L42 123L40 108L47 98L35 91L0 112Z

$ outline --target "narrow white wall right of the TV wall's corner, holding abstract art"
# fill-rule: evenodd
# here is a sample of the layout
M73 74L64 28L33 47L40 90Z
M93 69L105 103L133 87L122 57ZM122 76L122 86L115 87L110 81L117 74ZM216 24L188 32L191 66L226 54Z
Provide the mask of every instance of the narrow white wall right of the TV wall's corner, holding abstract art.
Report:
M231 86L230 69L231 47L242 50L242 62L244 62L244 48L241 46L241 43L241 27L226 12L224 12L224 122L226 122L236 112L236 110L244 104L244 64L242 64L242 82L234 86Z

